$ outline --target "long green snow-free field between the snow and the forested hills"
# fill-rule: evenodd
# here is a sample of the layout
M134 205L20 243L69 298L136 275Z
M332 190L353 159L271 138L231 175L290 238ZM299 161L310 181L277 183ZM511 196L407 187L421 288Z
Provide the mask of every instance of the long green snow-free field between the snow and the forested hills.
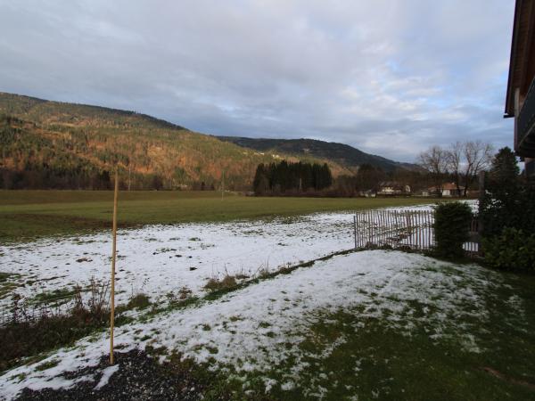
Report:
M0 191L0 241L28 241L111 227L110 191ZM220 192L120 192L119 226L228 221L317 211L408 206L415 198L258 198Z

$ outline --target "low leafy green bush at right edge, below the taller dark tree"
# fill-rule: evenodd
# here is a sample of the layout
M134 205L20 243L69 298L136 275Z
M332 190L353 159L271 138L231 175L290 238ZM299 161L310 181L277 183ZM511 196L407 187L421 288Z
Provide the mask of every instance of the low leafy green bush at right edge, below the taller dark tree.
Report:
M535 234L506 227L501 234L483 239L485 260L498 269L535 270Z

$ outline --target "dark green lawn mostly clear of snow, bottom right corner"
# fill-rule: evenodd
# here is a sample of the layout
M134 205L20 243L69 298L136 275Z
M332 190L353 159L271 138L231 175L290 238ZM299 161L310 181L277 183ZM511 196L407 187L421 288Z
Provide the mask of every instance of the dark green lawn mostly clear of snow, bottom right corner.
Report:
M324 312L303 332L299 361L286 360L268 374L250 372L245 387L243 379L229 380L228 374L220 382L210 378L210 386L226 388L235 394L232 399L317 399L317 390L311 389L322 389L322 399L333 401L535 399L535 276L503 274L501 279L486 295L489 319L467 314L454 322L445 317L450 324L440 340L430 336L433 327L422 319L429 305L416 299L408 302L410 313L398 322L411 323L410 335L389 322L387 311L379 318L364 317L359 307ZM525 314L514 312L512 296L522 299ZM469 303L460 307L477 312ZM480 353L461 346L459 326L473 335ZM295 364L304 364L297 380ZM266 376L276 380L268 394ZM288 381L294 387L282 389Z

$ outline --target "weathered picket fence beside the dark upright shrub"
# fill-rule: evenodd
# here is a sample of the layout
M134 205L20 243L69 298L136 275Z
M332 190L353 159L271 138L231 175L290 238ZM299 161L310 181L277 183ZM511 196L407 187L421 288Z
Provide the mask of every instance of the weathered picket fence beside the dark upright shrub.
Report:
M353 218L355 248L390 246L430 250L435 245L433 210L363 210ZM463 248L469 255L476 255L480 250L476 218L470 225L470 240Z

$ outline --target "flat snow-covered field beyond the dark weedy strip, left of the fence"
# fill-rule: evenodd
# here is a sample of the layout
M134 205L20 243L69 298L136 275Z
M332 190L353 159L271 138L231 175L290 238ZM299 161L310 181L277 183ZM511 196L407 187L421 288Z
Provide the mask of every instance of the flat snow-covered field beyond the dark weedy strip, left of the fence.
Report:
M396 210L431 209L431 205ZM221 224L152 225L120 230L117 302L143 292L153 301L186 287L202 293L210 278L225 274L253 277L281 266L324 257L354 247L351 213L318 213L268 221ZM0 272L22 299L86 287L91 278L108 280L111 235L99 233L0 247ZM0 295L0 314L11 297Z

